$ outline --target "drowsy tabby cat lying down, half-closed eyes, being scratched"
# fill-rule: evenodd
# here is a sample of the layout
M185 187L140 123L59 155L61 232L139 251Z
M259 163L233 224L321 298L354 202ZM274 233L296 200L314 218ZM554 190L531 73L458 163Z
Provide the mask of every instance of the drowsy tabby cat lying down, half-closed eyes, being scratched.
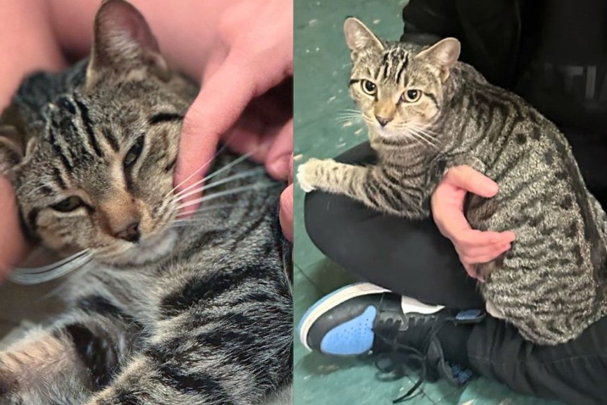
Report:
M0 404L259 404L290 386L282 185L222 153L213 201L179 216L172 178L196 94L142 15L109 0L90 58L31 75L1 115L24 230L78 270L68 310L0 351Z

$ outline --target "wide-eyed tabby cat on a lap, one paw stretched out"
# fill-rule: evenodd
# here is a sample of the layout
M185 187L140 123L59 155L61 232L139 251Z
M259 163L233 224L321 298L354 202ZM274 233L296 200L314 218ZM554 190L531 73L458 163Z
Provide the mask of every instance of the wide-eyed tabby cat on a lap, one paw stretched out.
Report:
M472 227L517 235L507 253L477 265L488 311L538 344L573 339L604 316L606 214L558 128L458 62L454 38L415 50L378 39L355 18L344 30L350 94L379 163L310 159L298 170L301 188L422 219L445 170L470 165L500 185L494 198L467 200Z

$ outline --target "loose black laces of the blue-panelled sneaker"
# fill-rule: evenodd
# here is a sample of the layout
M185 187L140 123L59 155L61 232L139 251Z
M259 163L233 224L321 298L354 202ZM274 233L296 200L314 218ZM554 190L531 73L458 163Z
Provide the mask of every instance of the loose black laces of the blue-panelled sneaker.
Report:
M383 300L384 298L382 297L378 306L378 312L380 313L382 311ZM424 320L423 318L412 317L411 321L412 325L410 324L410 326L414 326L416 321ZM426 381L426 375L428 371L426 367L428 348L430 347L430 343L432 342L432 340L440 331L442 325L449 321L454 321L454 319L450 317L443 318L441 321L435 321L432 327L430 327L430 331L421 342L422 351L424 351L424 353L419 351L417 348L414 348L413 346L401 344L396 341L396 338L398 337L398 329L400 328L400 323L402 323L401 320L393 321L389 319L385 322L378 322L377 325L373 325L375 336L380 338L380 340L384 344L391 348L391 351L389 351L388 353L380 353L375 358L375 367L377 367L380 372L385 374L396 374L397 376L402 377L405 375L404 369L407 365L407 362L410 362L410 360L414 360L414 362L417 362L420 368L419 378L417 378L416 383L414 383L412 388L410 388L410 390L408 390L405 395L401 395L400 397L394 399L394 401L392 401L392 404L398 404L399 402L411 399L412 395L417 391L419 386L424 383L424 381ZM389 325L386 327L384 326L384 324ZM382 335L382 332L384 330L396 330L396 333L394 333L393 336L386 337ZM382 364L382 362L386 361L387 364Z

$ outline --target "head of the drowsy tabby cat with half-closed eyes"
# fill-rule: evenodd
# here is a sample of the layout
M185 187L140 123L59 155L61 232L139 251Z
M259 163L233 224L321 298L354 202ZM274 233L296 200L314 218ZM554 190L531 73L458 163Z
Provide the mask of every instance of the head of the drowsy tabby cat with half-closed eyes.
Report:
M5 171L30 233L65 254L91 249L119 261L160 240L175 214L172 177L193 91L168 70L142 15L119 0L98 11L80 76L45 106L40 133L26 140L13 128L0 154L12 162Z

